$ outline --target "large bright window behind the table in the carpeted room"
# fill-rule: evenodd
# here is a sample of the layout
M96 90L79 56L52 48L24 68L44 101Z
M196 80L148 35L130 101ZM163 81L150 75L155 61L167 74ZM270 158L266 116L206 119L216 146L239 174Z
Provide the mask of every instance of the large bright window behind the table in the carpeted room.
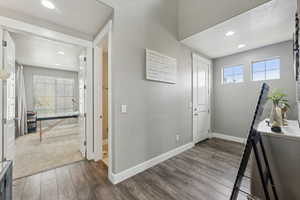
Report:
M74 112L74 79L35 75L33 85L38 114Z

